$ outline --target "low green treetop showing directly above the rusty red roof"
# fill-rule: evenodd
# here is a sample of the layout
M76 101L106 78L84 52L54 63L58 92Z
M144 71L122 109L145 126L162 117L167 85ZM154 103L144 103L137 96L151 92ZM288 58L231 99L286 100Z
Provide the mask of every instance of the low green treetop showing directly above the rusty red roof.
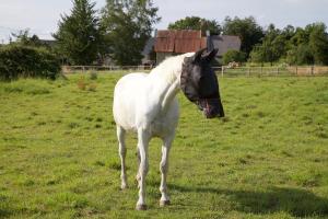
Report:
M201 30L202 33L210 31L210 35L219 35L222 31L215 20L206 20L199 16L187 16L168 25L168 30Z

